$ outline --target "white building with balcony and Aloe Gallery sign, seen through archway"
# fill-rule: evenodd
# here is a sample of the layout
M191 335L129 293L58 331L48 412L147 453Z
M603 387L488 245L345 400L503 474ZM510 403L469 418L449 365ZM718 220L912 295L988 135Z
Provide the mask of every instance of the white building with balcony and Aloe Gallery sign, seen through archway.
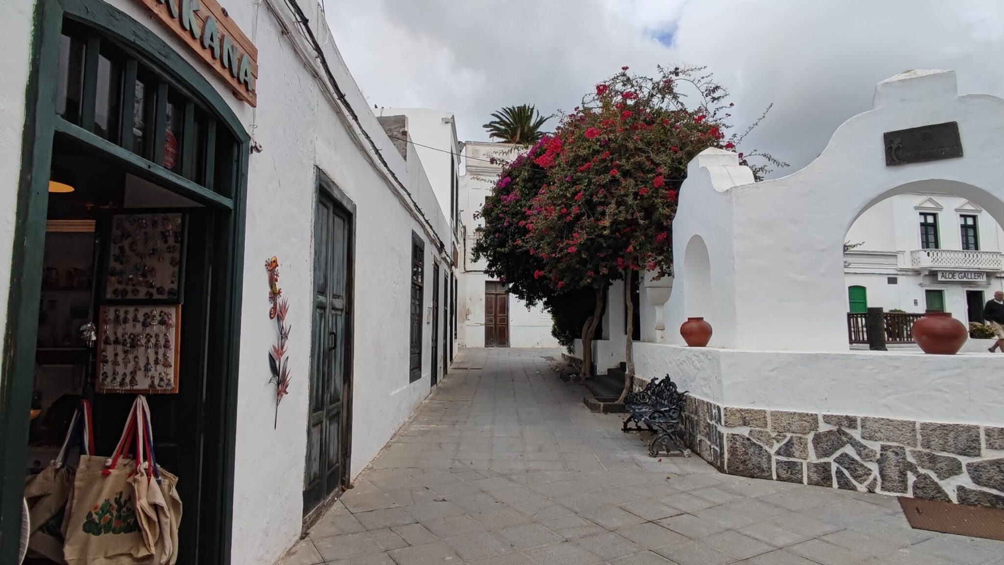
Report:
M982 322L1004 290L1004 231L979 205L950 191L910 193L876 203L847 231L848 312L868 307L950 312Z

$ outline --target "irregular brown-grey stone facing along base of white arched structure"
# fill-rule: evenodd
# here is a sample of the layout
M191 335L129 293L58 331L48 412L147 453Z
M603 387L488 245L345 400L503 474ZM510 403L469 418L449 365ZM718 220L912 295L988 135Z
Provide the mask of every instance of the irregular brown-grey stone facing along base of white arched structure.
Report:
M719 470L1004 508L1004 428L720 406L689 397L684 440Z

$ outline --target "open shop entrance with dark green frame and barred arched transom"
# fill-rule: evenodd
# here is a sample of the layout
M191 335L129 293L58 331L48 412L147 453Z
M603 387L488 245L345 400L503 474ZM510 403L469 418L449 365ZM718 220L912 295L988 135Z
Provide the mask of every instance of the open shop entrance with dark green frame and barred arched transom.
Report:
M158 463L179 477L178 562L229 563L248 137L121 12L37 10L0 381L0 562L16 562L25 476L52 458L77 399L103 456L145 394Z

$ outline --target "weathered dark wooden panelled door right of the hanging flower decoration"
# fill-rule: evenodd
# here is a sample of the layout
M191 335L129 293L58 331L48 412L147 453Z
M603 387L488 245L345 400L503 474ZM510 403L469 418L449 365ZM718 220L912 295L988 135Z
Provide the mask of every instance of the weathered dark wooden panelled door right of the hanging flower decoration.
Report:
M303 481L303 514L339 489L346 476L345 362L349 216L321 191L314 214L314 312L310 416Z

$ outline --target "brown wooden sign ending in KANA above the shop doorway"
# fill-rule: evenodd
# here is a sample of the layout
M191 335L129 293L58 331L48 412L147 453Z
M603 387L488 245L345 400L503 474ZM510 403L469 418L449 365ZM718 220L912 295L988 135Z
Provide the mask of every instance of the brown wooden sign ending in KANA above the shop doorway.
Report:
M216 0L140 0L252 107L258 49Z

